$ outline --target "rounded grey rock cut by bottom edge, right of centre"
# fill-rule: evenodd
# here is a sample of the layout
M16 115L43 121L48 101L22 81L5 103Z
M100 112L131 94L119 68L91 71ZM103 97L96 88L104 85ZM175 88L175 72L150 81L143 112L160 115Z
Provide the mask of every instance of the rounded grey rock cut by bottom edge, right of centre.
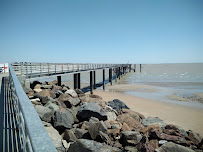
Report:
M192 149L167 142L155 150L156 152L194 152Z

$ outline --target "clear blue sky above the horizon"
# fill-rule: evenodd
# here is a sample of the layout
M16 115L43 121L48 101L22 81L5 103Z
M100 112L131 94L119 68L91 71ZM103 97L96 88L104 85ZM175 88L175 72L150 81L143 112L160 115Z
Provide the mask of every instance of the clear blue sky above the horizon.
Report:
M0 0L0 63L203 62L203 0Z

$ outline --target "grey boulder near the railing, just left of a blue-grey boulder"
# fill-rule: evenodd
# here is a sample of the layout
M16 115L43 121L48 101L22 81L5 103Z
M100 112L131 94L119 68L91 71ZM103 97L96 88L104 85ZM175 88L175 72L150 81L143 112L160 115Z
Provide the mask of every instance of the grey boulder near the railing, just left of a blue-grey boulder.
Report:
M36 105L35 109L39 115L39 117L41 118L41 120L46 121L46 122L51 122L51 118L54 114L54 112L47 108L47 107L43 107L41 105Z

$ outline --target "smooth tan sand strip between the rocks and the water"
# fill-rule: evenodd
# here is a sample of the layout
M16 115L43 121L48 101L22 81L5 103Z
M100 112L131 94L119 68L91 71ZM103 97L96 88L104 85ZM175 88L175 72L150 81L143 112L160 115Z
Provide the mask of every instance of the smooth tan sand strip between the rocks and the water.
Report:
M185 130L193 130L203 136L203 109L150 100L118 92L94 90L94 94L101 96L105 101L120 99L130 109L144 114L145 117L159 117L166 123L181 126Z

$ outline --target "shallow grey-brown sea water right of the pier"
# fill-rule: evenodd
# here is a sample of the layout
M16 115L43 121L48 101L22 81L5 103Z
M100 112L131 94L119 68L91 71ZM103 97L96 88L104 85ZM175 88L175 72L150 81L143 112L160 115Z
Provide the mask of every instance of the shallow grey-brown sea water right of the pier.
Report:
M194 100L184 102L168 98L170 95L187 98L194 97L195 93L203 93L203 63L143 64L141 72L139 66L136 67L136 72L128 73L119 83L145 85L155 91L147 92L143 88L138 91L129 89L123 93L203 108L202 103Z

